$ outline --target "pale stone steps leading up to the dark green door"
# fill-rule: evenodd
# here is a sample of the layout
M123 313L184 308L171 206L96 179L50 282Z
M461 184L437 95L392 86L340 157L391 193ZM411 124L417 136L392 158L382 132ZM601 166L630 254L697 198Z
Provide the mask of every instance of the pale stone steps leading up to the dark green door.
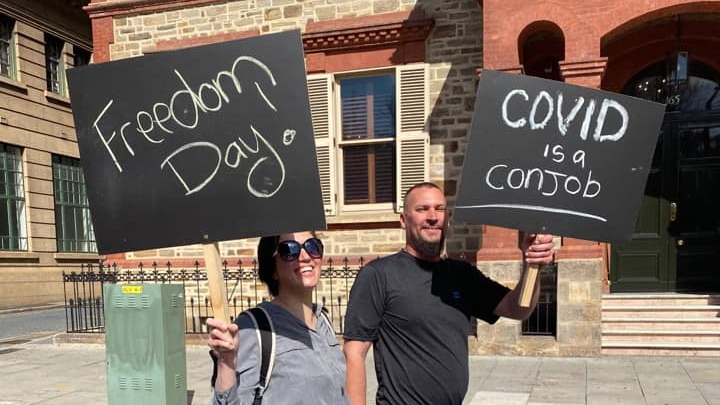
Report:
M720 297L607 294L602 354L720 356Z

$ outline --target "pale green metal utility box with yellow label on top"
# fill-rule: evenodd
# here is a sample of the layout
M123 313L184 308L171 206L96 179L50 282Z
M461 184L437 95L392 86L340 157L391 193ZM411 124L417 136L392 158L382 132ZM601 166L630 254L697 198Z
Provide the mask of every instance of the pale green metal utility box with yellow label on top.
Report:
M108 405L187 405L179 284L106 284Z

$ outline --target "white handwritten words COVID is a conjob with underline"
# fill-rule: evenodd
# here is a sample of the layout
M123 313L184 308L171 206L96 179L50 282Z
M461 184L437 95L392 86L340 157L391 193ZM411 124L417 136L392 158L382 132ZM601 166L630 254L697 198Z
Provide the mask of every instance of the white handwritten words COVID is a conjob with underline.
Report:
M507 91L500 100L500 122L501 126L510 129L508 134L532 134L536 131L547 133L548 130L556 129L556 133L562 137L576 136L582 141L618 142L628 130L627 109L610 98L586 99L577 96L569 101L561 91L556 91L553 96L546 90L531 94L525 89L514 88ZM500 192L535 193L543 198L568 196L593 199L601 195L603 187L601 182L593 177L586 150L568 150L563 144L546 143L540 152L547 164L492 163L485 171L485 187ZM572 170L572 167L579 169L579 172ZM594 214L538 204L482 204L457 208L545 211L605 221L605 218Z

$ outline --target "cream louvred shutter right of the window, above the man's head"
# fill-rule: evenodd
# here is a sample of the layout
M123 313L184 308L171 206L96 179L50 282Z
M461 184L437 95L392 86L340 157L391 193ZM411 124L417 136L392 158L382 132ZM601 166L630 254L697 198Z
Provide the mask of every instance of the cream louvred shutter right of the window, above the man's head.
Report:
M427 131L428 81L423 64L399 66L399 111L396 147L396 211L403 209L405 192L428 180L430 137Z

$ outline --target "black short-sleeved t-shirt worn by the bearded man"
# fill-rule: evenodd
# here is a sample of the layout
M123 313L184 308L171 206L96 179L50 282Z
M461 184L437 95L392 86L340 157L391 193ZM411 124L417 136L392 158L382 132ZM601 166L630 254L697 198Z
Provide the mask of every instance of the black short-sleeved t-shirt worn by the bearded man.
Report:
M495 323L508 291L468 263L426 262L405 251L363 267L344 337L374 344L377 404L461 404L470 316Z

